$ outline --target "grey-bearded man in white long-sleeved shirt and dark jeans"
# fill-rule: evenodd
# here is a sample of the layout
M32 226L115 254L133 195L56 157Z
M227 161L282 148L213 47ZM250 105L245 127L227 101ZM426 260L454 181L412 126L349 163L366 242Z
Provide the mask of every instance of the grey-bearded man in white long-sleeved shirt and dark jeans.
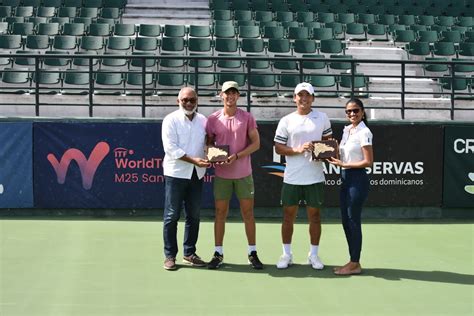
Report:
M163 243L166 270L176 270L178 221L184 206L186 215L183 262L204 267L206 262L196 254L199 233L203 177L210 163L204 158L206 118L196 112L198 97L189 87L181 89L179 109L163 119L161 137L165 157L165 207Z

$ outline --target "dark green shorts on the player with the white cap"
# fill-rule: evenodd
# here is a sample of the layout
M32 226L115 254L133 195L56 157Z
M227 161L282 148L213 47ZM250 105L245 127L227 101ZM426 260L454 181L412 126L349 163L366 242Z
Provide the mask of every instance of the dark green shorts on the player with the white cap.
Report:
M283 183L281 188L281 204L283 206L305 204L309 207L324 206L324 182L309 185Z

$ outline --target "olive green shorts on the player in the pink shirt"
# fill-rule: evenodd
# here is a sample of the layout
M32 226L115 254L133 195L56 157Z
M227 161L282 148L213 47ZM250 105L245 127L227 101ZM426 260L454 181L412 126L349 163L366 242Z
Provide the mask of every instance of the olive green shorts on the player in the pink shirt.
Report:
M235 192L239 200L253 199L255 190L252 175L241 179L214 178L214 199L230 200L232 192Z

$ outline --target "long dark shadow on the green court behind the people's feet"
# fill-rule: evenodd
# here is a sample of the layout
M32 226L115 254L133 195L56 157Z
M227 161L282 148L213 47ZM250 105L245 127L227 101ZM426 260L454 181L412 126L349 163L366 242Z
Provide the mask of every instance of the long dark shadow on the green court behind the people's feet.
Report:
M256 273L268 274L276 278L321 278L321 279L341 279L341 278L360 278L375 277L388 281L416 280L436 283L452 283L463 285L474 285L474 275L462 274L447 271L415 271L387 268L367 268L363 273L357 276L340 276L333 273L334 266L326 266L323 270L317 271L308 265L293 264L288 269L277 269L274 265L265 265L263 270L254 270L246 264L224 263L216 273L234 272L234 273Z

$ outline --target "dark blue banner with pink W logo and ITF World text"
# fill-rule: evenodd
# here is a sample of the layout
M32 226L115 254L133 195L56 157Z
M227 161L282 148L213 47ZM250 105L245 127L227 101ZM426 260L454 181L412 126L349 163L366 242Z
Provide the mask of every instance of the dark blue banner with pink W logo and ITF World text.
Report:
M34 143L36 207L163 208L161 124L36 123Z

